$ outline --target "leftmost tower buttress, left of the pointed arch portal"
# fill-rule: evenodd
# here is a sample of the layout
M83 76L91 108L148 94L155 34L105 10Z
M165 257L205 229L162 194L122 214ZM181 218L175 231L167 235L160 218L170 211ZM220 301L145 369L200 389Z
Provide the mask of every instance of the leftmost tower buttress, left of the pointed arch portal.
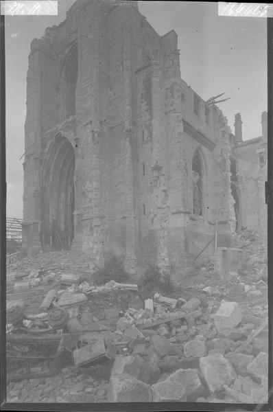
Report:
M58 64L50 30L44 38L34 39L27 70L27 115L25 120L25 160L23 193L23 251L36 253L40 244L40 179L43 168L43 137L56 125L56 78ZM43 100L43 104L42 104Z

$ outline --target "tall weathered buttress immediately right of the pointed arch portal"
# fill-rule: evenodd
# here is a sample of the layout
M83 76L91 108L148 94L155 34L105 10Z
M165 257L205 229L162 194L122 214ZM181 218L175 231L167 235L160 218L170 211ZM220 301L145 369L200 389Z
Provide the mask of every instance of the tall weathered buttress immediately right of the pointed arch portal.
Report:
M82 176L82 250L88 251L91 260L101 266L104 262L104 244L107 234L102 207L102 162L106 162L107 130L102 126L102 79L107 67L105 60L104 30L102 30L102 8L97 2L81 10L80 19L84 32L80 36L81 65L79 67L82 90L80 116L82 135L85 137ZM88 60L88 62L86 61ZM89 63L89 64L88 64ZM103 158L104 155L104 158ZM106 159L105 159L106 158Z

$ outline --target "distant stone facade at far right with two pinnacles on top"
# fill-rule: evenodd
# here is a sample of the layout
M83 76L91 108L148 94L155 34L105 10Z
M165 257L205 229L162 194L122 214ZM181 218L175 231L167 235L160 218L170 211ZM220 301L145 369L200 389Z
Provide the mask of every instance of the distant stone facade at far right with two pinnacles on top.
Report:
M235 198L237 229L255 229L267 240L268 219L265 204L265 181L268 179L268 113L261 115L262 135L242 139L241 115L235 115L235 135L231 141L231 180Z

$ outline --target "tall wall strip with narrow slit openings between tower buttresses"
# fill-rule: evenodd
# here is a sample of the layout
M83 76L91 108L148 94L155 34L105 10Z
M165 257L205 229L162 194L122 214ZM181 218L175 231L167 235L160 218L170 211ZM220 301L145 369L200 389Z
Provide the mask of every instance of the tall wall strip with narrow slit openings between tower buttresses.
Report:
M142 42L141 65L136 71L139 250L144 262L151 262L168 271L169 200L163 82L165 56L160 36L143 18L139 21Z

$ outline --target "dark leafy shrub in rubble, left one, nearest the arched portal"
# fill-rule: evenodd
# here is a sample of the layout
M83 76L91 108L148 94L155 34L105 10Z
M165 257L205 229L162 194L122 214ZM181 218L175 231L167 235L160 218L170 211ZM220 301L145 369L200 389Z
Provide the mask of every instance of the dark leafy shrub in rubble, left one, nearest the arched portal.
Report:
M115 282L128 282L128 273L125 271L123 262L117 256L110 256L102 268L96 268L93 273L95 284L102 285L110 280Z

